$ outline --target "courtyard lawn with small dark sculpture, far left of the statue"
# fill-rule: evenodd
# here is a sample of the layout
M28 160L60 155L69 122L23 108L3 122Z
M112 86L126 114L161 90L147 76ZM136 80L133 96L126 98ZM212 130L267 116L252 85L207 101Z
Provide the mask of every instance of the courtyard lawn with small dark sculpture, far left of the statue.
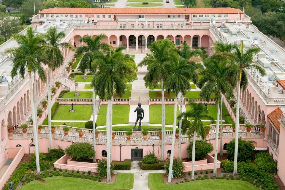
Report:
M74 105L75 112L69 112L71 105L60 105L53 120L90 120L91 105Z

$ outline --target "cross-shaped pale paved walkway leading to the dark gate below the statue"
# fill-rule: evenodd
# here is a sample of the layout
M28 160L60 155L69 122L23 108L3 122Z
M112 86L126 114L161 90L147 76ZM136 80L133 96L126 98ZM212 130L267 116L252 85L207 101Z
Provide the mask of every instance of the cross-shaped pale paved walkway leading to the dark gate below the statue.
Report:
M131 170L115 170L115 173L133 173L134 187L132 190L149 190L148 189L148 174L149 173L164 173L164 170L141 170L140 161L133 161Z

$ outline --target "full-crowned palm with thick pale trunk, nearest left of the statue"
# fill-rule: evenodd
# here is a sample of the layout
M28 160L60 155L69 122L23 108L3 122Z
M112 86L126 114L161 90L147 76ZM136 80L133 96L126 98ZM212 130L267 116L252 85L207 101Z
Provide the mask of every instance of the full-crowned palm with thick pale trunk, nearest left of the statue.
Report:
M122 96L126 91L124 78L126 75L133 75L134 70L129 67L126 61L130 61L129 55L124 55L121 50L125 47L119 46L116 50L110 45L106 52L94 53L92 63L93 70L96 70L92 86L100 99L106 99L106 132L107 132L107 181L111 180L111 136L112 136L112 115L113 115L113 95L114 89L118 96Z

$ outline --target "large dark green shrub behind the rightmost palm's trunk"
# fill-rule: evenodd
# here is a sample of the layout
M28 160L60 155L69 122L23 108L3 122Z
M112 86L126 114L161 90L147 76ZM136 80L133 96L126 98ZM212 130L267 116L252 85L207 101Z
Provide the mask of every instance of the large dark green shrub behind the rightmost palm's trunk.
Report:
M253 159L254 145L252 141L242 140L238 138L238 162L246 162ZM229 160L234 160L235 157L235 140L231 140L227 144L227 156Z

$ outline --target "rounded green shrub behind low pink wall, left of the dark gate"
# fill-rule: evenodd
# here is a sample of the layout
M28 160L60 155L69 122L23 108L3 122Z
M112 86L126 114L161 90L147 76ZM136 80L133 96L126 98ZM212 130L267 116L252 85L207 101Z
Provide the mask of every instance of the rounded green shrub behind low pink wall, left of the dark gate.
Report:
M68 156L72 157L73 161L87 162L91 157L95 156L95 151L91 144L74 143L65 149Z

